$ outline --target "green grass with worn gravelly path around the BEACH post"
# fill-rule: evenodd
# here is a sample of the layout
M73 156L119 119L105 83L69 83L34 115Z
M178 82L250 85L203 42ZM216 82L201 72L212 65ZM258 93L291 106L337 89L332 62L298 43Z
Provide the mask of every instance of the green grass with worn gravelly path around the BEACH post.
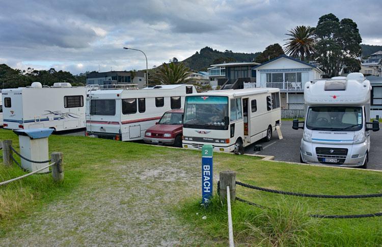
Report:
M12 139L18 149L18 138L12 131L0 130L0 137ZM207 209L199 205L199 151L57 135L49 137L49 152L53 151L64 153L63 182L53 183L51 174L33 175L0 188L0 242L123 245L122 240L128 238L131 244L160 245L163 238L182 238L176 244L227 244L225 205L217 198ZM219 172L234 170L238 181L285 191L332 195L382 192L380 172L266 162L226 153L214 153L213 159L214 190ZM0 181L21 174L16 166L0 166ZM296 198L239 186L236 194L270 208L262 210L241 202L232 205L238 244L258 244L263 239L269 242L264 240L260 245L275 244L275 238L266 236L272 236L276 225L288 225L285 219L290 217L297 230L294 235L286 234L286 242L296 235L297 242L305 245L382 244L382 217L317 221L306 217L308 212L382 211L381 198ZM206 220L202 220L203 215ZM57 227L56 221L66 220L70 224L64 224L64 230ZM54 236L45 236L47 231ZM163 231L168 234L163 235ZM23 242L25 234L35 240ZM141 238L148 239L142 243Z

